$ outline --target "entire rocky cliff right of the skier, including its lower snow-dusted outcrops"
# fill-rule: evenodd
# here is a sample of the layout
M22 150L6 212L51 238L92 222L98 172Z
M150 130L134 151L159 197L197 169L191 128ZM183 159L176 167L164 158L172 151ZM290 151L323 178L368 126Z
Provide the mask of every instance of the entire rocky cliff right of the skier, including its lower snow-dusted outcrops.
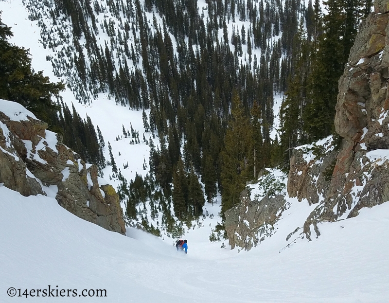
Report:
M314 208L305 221L291 228L286 241L293 234L311 240L320 235L319 222L351 218L361 208L389 201L388 81L389 2L376 0L339 79L335 126L340 137L293 150L289 174L284 177L286 191L276 197L280 202L268 193L259 198L250 194L269 177L247 187L240 205L226 213L232 248L249 250L271 236L269 231L275 232L276 222L293 198Z

